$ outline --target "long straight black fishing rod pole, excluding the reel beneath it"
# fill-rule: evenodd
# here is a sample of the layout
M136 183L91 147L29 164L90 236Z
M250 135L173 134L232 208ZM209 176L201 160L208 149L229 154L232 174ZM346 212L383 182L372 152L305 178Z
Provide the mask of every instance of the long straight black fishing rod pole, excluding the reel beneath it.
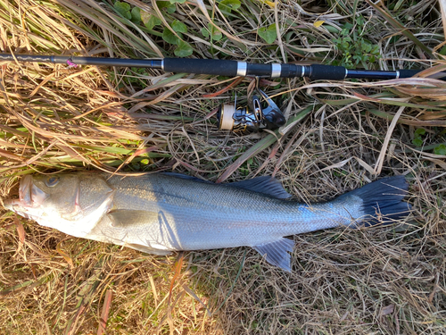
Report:
M343 66L333 65L296 65L280 63L245 63L218 59L193 58L164 58L164 59L128 59L103 57L77 57L62 55L35 55L35 54L0 54L1 61L19 61L30 63L64 63L68 65L99 65L118 67L137 67L161 69L167 72L185 72L196 74L211 74L227 77L250 76L270 78L301 78L310 80L393 80L409 78L421 70L398 71L368 71L349 70ZM446 80L446 73L442 80Z

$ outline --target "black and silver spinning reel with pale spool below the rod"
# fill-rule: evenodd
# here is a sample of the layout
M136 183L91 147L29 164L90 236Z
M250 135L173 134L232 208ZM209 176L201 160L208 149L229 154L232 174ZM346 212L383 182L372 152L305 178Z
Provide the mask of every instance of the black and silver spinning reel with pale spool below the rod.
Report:
M248 97L247 105L220 105L217 112L220 130L235 132L258 132L261 129L277 130L286 122L285 115L280 108L263 92L257 88L260 96L265 100L262 106L259 96Z

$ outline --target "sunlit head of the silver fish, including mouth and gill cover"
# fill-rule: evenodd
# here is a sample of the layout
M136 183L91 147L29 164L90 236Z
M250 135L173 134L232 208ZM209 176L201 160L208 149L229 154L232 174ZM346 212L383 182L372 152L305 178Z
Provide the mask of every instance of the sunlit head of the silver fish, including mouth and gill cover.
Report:
M40 225L84 237L111 209L113 193L99 175L26 175L19 198L5 200L4 207Z

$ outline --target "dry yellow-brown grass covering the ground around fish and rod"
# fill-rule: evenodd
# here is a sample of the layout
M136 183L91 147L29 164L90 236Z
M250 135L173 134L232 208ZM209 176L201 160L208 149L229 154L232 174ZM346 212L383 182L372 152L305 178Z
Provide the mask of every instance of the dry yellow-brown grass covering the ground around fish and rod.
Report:
M334 42L340 28L356 22L351 31L379 46L379 61L369 67L444 69L436 1L391 1L385 9L349 0L277 7L253 0L232 13L198 1L176 4L171 14L153 10L152 2L128 3L162 12L164 21L146 29L113 12L109 2L0 0L0 47L14 53L172 56L175 47L161 39L161 31L178 20L187 26L182 38L196 57L329 63L344 56ZM222 30L219 41L201 33L210 21ZM266 45L256 31L275 22L279 38ZM2 333L102 333L101 319L108 334L446 333L446 155L439 151L446 142L444 82L276 80L265 90L293 126L282 135L235 136L219 132L210 114L235 92L243 99L249 80L208 98L234 79L0 66L3 197L23 174L84 168L173 169L214 181L273 174L303 202L331 199L376 174L405 174L414 207L409 221L388 228L295 236L291 274L244 247L178 259L144 255L70 238L3 212ZM416 146L420 128L423 145Z

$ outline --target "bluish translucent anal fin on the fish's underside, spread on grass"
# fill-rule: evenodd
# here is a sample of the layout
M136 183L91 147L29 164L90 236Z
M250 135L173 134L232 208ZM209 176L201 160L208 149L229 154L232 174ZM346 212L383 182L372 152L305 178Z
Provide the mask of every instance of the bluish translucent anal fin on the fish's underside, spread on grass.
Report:
M263 255L269 264L276 265L287 272L291 272L291 255L294 241L281 238L277 241L254 246L260 255Z

